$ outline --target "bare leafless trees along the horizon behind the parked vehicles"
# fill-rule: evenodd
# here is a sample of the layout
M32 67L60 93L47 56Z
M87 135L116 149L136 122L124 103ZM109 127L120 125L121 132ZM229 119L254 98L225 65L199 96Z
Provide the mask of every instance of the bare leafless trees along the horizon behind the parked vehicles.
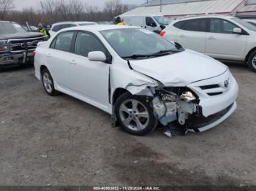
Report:
M103 9L84 4L81 0L41 0L39 8L14 9L12 0L0 0L0 20L12 20L20 24L53 24L60 21L112 21L135 5L122 4L120 0L108 0Z

